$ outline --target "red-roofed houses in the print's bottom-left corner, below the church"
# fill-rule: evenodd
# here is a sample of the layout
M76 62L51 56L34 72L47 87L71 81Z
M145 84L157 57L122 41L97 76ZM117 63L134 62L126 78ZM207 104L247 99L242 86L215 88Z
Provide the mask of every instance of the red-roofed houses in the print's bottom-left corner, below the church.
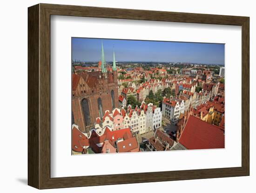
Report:
M72 153L73 154L100 154L139 152L140 146L130 128L112 131L108 127L99 134L91 129L89 134L83 133L78 126L72 126Z

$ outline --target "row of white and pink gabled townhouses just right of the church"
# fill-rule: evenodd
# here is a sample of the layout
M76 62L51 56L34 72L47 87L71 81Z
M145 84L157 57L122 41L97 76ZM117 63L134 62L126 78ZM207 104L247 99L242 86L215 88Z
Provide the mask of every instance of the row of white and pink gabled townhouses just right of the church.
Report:
M108 127L111 131L130 128L133 135L144 134L162 126L161 108L154 106L152 103L141 103L132 109L128 105L127 110L124 108L115 108L112 111L106 110L102 119L96 118L95 130L101 135L104 128Z

